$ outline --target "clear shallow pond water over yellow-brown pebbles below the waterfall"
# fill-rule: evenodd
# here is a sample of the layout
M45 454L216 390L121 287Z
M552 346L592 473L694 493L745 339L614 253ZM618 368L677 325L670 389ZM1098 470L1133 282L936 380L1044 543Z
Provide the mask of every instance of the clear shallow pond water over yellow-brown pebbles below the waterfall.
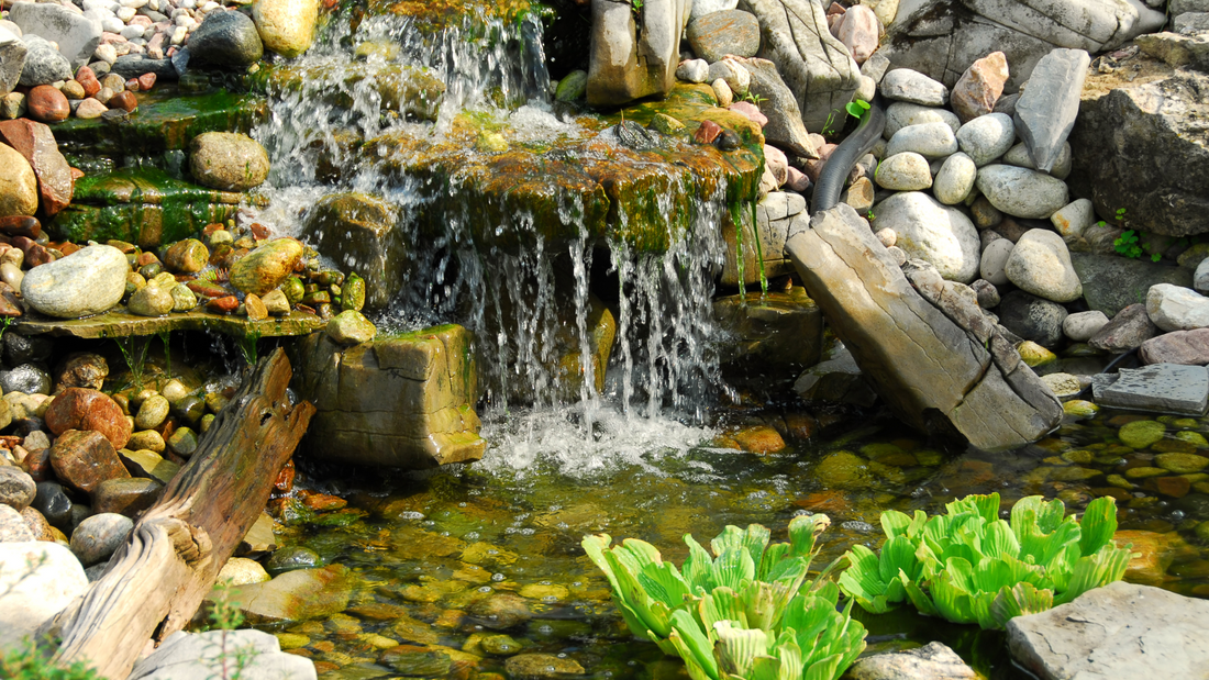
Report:
M591 438L579 430L580 407L514 411L488 418L485 435L492 447L481 463L422 478L337 470L303 475L311 480L305 486L349 505L310 523L297 521L278 540L351 568L361 585L342 614L267 629L294 634L283 639L300 645L295 652L311 656L328 678L446 674L436 670L456 676L453 650L482 656L480 674L502 672L507 655L523 650L573 659L591 678L687 678L679 659L630 635L607 581L580 548L584 535L643 539L679 563L687 554L684 534L704 542L727 524L760 523L774 540L785 540L793 515L825 512L832 527L812 564L818 570L854 544L877 550L883 510L939 512L944 502L971 493L999 493L1005 510L1041 494L1076 511L1095 495L1116 494L1121 529L1156 531L1172 541L1175 565L1156 585L1204 595L1209 553L1193 546L1197 524L1209 519L1209 495L1193 490L1174 499L1150 490L1157 487L1146 478L1133 478L1138 484L1126 492L1106 480L1151 467L1156 448L1191 452L1185 440L1196 437L1180 432L1205 432L1209 424L1162 417L1162 438L1134 451L1120 443L1118 428L1139 418L1151 417L1104 412L1069 422L1036 446L990 454L932 448L877 412L820 413L814 436L805 440L792 436L804 434L802 423L810 420L800 406L716 412L716 428L602 407L591 419ZM719 434L754 423L779 425L789 435L788 448L754 455L711 446L725 441ZM493 599L502 594L520 600ZM854 612L869 630L870 652L941 640L987 678L1028 678L1012 667L1002 633L922 617L910 608L880 616L860 608ZM484 643L499 634L510 638ZM449 647L453 668L426 666L423 653L430 649L421 653L417 647L406 658L383 656L395 643ZM496 653L485 644L496 645Z

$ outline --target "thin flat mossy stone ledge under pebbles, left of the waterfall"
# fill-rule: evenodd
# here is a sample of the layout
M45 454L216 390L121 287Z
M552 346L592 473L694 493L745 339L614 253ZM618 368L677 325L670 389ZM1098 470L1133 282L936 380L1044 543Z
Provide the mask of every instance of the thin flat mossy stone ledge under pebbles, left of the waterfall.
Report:
M51 319L41 315L21 318L11 330L23 336L52 335L74 338L121 338L154 336L170 331L215 331L236 338L248 336L272 338L305 336L328 325L328 320L306 312L293 310L287 316L270 316L250 321L247 316L185 312L167 316L137 316L125 307L88 316L87 319Z

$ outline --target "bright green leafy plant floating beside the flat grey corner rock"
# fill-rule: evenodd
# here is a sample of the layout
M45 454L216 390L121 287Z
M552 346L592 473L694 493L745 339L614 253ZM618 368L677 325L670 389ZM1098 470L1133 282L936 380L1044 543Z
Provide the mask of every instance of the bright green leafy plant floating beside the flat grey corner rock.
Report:
M855 545L839 587L866 610L881 614L910 600L927 615L983 628L1003 628L1022 614L1045 611L1120 580L1129 550L1117 547L1116 505L1088 504L1082 522L1060 500L1029 496L999 517L999 494L971 495L929 518L881 513L886 542L878 556Z

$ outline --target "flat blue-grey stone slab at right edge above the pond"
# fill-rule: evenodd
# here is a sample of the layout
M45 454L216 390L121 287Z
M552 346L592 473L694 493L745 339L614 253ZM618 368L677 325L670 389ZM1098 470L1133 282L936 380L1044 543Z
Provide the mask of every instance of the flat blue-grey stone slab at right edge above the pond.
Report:
M1095 402L1111 408L1203 415L1209 406L1209 371L1204 366L1151 364L1120 373L1092 376Z

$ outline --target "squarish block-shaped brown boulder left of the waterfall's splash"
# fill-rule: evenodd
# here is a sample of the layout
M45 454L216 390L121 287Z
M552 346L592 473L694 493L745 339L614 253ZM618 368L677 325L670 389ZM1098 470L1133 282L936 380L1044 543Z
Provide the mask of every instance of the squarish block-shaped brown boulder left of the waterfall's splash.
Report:
M440 326L341 348L300 344L296 388L314 403L311 454L322 460L429 469L478 460L478 373L470 336Z

